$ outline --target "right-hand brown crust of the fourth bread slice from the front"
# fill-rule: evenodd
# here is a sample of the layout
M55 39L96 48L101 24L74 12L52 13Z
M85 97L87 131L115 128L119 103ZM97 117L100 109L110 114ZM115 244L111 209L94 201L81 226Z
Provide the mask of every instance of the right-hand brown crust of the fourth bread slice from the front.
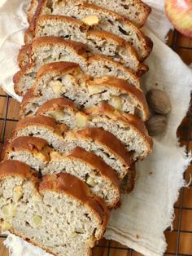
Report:
M153 140L148 135L148 131L146 130L146 126L143 121L132 114L128 113L120 113L116 108L113 108L111 105L106 104L104 102L98 104L98 106L94 106L93 108L87 108L84 111L86 114L93 115L105 115L111 118L113 121L122 121L125 126L131 126L133 130L136 130L138 134L142 136L144 141L148 144L148 151L152 151Z

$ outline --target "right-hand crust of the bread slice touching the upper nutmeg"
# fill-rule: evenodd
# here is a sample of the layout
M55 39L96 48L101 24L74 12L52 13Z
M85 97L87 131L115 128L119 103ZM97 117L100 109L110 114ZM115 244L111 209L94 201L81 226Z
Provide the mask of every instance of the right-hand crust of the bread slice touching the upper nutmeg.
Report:
M88 82L88 86L99 85L104 85L108 88L116 88L116 90L120 90L125 95L132 95L140 104L144 121L149 118L148 104L146 103L146 97L141 89L137 89L137 87L132 86L129 82L116 77L95 77L94 80Z

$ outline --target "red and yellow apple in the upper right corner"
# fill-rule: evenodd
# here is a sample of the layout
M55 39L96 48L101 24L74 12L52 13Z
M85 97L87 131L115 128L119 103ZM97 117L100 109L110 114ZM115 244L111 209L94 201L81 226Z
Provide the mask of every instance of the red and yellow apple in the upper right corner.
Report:
M175 29L192 38L192 0L165 0L164 7Z

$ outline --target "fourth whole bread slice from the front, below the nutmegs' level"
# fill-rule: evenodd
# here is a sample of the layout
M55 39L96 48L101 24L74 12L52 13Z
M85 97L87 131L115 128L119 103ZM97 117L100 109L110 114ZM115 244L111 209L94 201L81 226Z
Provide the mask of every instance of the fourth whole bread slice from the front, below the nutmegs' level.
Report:
M70 129L102 127L110 131L131 152L133 160L147 157L152 150L152 140L141 119L132 114L120 113L116 108L101 102L83 112L68 107L65 99L52 99L39 108L37 114L53 117Z

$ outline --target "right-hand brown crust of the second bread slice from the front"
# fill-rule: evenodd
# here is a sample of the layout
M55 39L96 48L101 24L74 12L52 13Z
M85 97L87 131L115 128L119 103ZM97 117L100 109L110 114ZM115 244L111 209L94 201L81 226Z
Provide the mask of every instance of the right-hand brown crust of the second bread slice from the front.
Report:
M116 171L108 166L102 158L96 156L92 152L87 152L85 149L77 147L68 155L69 158L76 158L80 161L85 161L89 166L92 166L95 170L98 170L104 176L107 176L116 188L119 188L120 182L117 177Z

